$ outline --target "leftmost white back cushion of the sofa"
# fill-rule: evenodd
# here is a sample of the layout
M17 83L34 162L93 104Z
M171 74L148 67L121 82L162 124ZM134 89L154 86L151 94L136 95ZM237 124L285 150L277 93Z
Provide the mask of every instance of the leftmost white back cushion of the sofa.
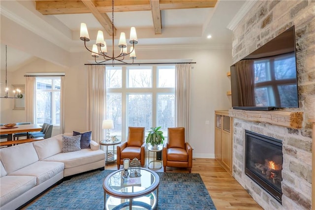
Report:
M1 162L7 174L38 161L32 142L0 149Z

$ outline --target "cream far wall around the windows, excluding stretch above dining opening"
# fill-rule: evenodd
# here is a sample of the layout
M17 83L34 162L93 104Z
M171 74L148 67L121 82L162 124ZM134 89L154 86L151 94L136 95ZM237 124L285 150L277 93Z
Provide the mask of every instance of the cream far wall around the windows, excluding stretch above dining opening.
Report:
M153 55L150 55L150 53ZM192 59L191 70L191 120L189 142L194 147L194 157L214 157L214 111L228 109L230 80L226 76L231 65L231 50L171 50L137 52L138 58L150 59ZM12 72L9 81L25 84L25 72L65 72L65 132L88 130L87 123L87 71L84 61L90 53L72 53L70 68L64 68L51 62L36 61ZM149 56L150 55L150 56ZM12 110L9 99L1 99L1 122L25 121L24 110ZM205 121L210 121L205 125Z

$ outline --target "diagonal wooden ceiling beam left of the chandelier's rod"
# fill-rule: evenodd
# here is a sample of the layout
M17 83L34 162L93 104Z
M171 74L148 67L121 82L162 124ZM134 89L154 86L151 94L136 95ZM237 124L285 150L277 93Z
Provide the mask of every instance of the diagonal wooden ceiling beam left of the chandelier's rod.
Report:
M112 21L107 16L107 14L99 13L92 0L82 0L82 2L84 3L84 5L86 5L86 7L90 9L91 13L95 16L95 18L98 20L98 22L102 25L102 27L109 35L112 35L113 33L114 35L116 35L116 28L114 27L113 32Z

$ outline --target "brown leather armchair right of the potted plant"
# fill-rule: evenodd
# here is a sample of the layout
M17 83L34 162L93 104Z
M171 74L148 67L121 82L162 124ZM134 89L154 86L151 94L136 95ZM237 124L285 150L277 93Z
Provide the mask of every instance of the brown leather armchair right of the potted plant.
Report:
M192 147L185 142L185 128L168 128L168 141L163 146L163 167L192 168Z

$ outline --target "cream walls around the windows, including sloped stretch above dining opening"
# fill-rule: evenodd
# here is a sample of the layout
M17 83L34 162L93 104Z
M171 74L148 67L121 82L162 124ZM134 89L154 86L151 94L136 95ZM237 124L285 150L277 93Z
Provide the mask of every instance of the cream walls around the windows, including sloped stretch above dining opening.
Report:
M1 43L9 47L39 57L30 64L10 73L11 84L25 84L25 72L65 72L65 132L89 130L87 121L87 71L91 54L65 52L38 35L1 16L2 26L9 25L10 30L1 30ZM11 34L21 34L16 46ZM32 47L31 47L32 46ZM191 59L191 119L189 142L194 147L194 157L214 157L214 111L228 109L231 106L230 80L226 72L232 64L231 49L187 49L170 50L137 48L137 57L145 60ZM160 46L159 46L160 47ZM82 45L82 49L84 46ZM39 56L40 55L40 56ZM2 56L1 56L2 57ZM2 70L1 70L2 72ZM13 82L14 79L14 82ZM25 121L25 111L12 110L9 99L0 100L0 122ZM205 121L210 121L205 125Z

